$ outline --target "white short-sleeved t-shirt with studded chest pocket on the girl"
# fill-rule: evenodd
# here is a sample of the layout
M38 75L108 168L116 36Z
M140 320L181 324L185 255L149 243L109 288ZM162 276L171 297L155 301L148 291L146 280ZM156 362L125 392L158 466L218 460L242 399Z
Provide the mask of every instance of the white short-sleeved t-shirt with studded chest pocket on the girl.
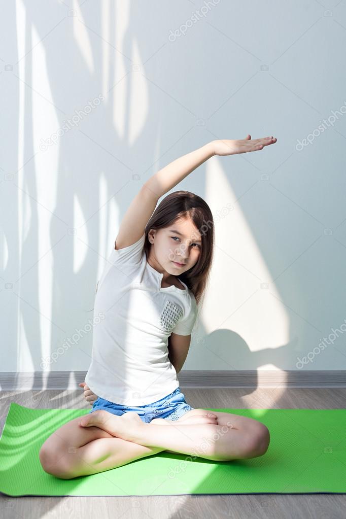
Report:
M172 393L179 381L168 358L171 332L190 335L196 299L171 285L151 267L143 250L145 234L110 253L95 295L92 361L85 381L99 397L121 405L146 405Z

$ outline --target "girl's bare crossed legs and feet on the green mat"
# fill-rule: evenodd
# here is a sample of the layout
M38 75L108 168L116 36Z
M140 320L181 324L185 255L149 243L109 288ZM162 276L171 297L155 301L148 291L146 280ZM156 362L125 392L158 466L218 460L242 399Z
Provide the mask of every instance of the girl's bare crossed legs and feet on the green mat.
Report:
M175 421L154 418L144 424L136 413L116 416L99 409L54 431L41 446L39 459L49 474L71 479L114 469L164 450L228 461L261 456L268 445L269 431L263 424L230 413L192 409Z

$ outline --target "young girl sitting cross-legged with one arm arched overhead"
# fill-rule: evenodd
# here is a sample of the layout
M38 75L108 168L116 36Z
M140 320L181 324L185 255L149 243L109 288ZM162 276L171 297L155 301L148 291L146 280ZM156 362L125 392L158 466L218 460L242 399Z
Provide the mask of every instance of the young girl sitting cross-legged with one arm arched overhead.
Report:
M94 313L101 317L81 384L93 407L41 446L46 472L71 479L162 450L217 461L267 451L264 424L193 409L179 390L176 375L210 274L214 223L207 203L187 191L170 193L156 205L210 157L254 152L275 142L272 136L252 140L251 135L212 141L143 184L123 217L96 289Z

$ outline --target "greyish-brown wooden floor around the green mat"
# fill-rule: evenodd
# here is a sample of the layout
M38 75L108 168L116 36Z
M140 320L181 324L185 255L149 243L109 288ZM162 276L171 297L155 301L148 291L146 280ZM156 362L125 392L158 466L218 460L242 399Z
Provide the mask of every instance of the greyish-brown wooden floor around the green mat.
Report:
M346 389L185 389L192 407L214 408L344 408ZM0 432L8 407L17 402L26 407L90 409L81 390L0 392ZM346 495L211 495L140 497L41 497L11 498L0 494L0 517L31 519L102 516L121 519L192 519L208 517L253 517L254 519L339 519L345 517Z

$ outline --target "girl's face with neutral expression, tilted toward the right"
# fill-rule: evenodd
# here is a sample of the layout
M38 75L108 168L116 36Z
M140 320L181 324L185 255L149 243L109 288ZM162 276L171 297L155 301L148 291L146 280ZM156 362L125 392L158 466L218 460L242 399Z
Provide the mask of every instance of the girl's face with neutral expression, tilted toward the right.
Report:
M197 263L202 238L191 220L179 218L168 227L150 230L148 235L152 243L150 259L169 274L180 276Z

